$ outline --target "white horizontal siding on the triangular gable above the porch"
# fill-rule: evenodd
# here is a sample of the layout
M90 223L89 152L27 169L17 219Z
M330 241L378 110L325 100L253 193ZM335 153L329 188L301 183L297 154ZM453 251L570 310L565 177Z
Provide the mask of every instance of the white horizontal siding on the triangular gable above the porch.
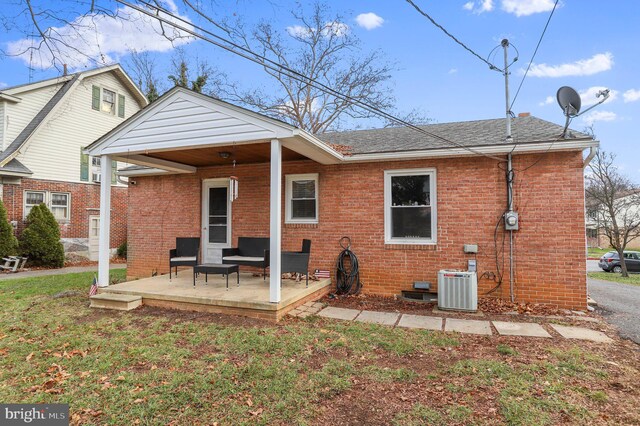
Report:
M273 129L239 119L212 103L177 97L129 129L110 147L136 151L163 149L180 141L189 146L204 146L228 141L230 137L242 142L266 140L275 135Z

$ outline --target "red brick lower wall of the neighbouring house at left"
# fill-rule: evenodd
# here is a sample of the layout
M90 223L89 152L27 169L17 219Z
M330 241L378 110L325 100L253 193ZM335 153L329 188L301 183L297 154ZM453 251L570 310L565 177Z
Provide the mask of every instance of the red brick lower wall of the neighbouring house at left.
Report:
M71 194L71 220L60 223L62 238L88 238L89 216L100 214L100 185L22 179L20 185L5 184L3 202L9 220L18 221L18 233L26 223L23 219L25 191L68 192ZM111 247L127 239L127 188L111 187Z

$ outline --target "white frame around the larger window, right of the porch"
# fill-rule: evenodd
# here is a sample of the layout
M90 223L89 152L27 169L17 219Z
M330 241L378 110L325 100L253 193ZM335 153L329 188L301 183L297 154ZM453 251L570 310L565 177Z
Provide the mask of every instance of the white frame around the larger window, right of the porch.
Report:
M431 238L398 238L391 236L391 178L394 176L429 176L429 203L431 205ZM384 171L384 242L385 244L434 245L438 240L438 193L436 169L399 169Z

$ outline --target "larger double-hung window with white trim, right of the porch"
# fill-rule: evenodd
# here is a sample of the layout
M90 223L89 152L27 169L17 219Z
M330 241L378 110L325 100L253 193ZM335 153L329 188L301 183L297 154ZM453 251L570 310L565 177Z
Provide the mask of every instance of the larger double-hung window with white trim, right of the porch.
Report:
M435 169L384 172L385 242L436 242Z

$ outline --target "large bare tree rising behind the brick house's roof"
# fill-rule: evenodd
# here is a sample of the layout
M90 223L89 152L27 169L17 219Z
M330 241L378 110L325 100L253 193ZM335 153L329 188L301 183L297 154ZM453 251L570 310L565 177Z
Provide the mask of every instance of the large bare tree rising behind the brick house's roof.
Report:
M297 71L349 98L391 111L395 98L388 83L393 64L379 50L364 52L343 17L316 2L310 13L302 6L292 12L296 23L284 30L261 22L247 31L242 22L228 26L234 40L259 55ZM376 114L351 100L339 99L321 89L292 78L281 70L265 67L275 83L269 88L245 89L230 84L225 96L232 102L292 123L311 133L340 128L346 118L368 119Z

